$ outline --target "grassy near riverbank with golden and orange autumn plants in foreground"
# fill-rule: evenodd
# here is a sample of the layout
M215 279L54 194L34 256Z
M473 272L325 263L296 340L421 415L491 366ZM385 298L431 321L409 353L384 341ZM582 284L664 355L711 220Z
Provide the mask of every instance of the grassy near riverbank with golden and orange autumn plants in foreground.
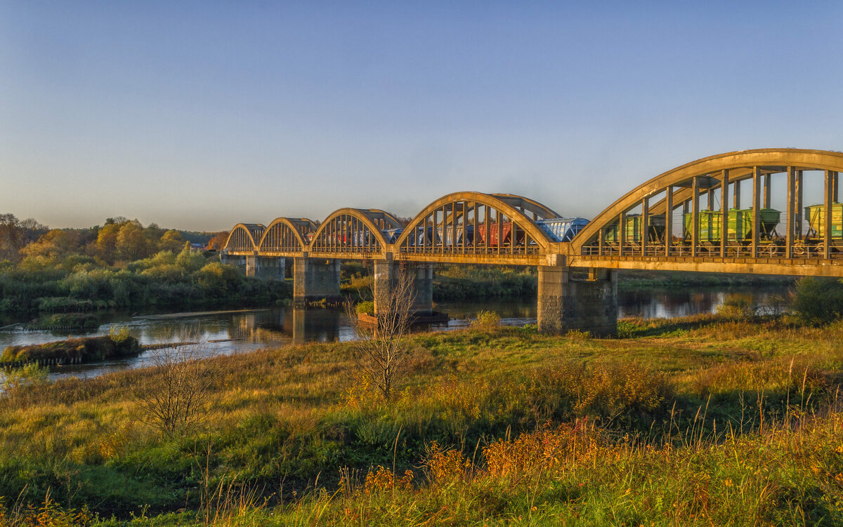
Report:
M392 402L345 343L208 359L202 419L172 436L137 406L152 370L30 386L0 398L0 496L155 524L840 520L840 322L623 327L417 334Z

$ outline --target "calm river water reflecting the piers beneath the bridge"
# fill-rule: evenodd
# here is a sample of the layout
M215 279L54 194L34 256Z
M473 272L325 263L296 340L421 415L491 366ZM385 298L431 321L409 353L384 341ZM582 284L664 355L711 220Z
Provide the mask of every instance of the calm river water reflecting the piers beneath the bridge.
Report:
M742 295L755 304L763 304L772 295L787 295L787 288L697 288L695 290L631 290L618 293L619 317L684 317L717 310L728 295ZM486 302L443 302L437 311L447 312L447 324L433 324L434 331L448 331L470 324L477 311L497 311L507 326L524 326L536 322L535 300ZM107 335L113 329L126 327L142 344L176 343L185 340L207 342L204 354L235 354L289 343L346 341L354 338L354 330L341 310L278 307L248 311L202 311L132 315L108 313L101 317L99 328L87 333L56 331L0 331L0 349L11 345L46 343L68 337ZM9 323L8 321L4 323ZM134 359L121 359L91 365L59 366L51 378L66 375L95 376L108 371L126 370L148 365L156 354L166 349L147 351Z

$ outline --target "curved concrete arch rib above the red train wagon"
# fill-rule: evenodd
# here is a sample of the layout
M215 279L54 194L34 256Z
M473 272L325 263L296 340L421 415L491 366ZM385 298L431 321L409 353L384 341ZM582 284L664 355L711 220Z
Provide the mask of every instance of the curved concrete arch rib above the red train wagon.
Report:
M470 204L468 208L465 210L452 210L448 211L448 205L453 205L456 203L468 203ZM542 231L538 226L536 226L532 219L530 219L522 210L518 210L516 206L518 204L523 204L523 208L525 210L529 210L531 212L536 213L536 216L541 217L556 217L555 212L548 209L544 205L538 204L533 200L528 200L523 198L522 196L516 196L514 194L484 194L481 192L455 192L454 194L448 194L436 201L433 201L430 205L427 205L424 210L421 210L416 217L412 219L412 221L407 224L404 229L404 232L401 233L401 236L395 241L396 247L402 247L407 238L411 235L416 235L416 229L419 227L419 224L422 221L426 221L428 216L431 216L433 213L437 212L438 210L446 210L448 214L448 219L446 221L451 221L451 217L454 216L454 219L457 217L461 217L464 215L465 212L468 210L473 210L478 206L486 206L492 209L498 210L503 215L507 216L513 223L518 226L519 229L523 230L529 236L540 245L543 250L547 250L550 247L550 243L552 242L549 237ZM539 214L539 212L541 214ZM545 214L547 216L545 216Z

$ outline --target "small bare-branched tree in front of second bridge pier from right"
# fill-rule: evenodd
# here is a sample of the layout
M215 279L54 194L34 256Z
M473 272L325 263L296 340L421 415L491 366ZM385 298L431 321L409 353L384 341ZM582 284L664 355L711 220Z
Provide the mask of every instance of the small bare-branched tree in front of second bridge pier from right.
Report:
M377 323L360 322L352 303L346 302L346 312L359 337L352 342L357 370L385 400L392 397L395 385L411 365L413 349L407 335L416 301L413 276L395 268L391 271L397 276L389 277L389 286L373 291Z

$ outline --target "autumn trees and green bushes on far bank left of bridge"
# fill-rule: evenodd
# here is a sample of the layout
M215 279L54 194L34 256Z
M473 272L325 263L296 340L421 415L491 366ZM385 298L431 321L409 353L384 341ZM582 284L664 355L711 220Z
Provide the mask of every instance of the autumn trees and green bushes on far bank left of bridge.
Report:
M215 253L192 251L182 232L154 224L110 218L49 230L12 215L0 221L0 312L266 306L292 296L287 283L247 278Z

